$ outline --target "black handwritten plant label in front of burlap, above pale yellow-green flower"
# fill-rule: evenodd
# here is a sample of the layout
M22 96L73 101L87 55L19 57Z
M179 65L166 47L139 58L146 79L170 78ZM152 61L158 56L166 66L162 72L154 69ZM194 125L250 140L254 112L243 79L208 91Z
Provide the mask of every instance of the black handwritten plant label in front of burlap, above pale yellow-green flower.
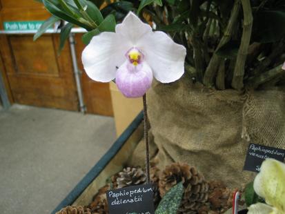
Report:
M285 150L271 146L249 144L244 170L259 173L262 162L267 158L273 158L280 162L284 162Z

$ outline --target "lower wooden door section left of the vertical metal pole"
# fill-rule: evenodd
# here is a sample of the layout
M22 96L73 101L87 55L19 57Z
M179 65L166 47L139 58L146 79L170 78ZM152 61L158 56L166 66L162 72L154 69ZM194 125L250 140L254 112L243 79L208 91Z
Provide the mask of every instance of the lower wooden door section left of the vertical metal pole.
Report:
M16 103L78 110L70 50L66 46L58 57L58 45L59 35L44 35L37 42L32 35L1 37L1 56Z

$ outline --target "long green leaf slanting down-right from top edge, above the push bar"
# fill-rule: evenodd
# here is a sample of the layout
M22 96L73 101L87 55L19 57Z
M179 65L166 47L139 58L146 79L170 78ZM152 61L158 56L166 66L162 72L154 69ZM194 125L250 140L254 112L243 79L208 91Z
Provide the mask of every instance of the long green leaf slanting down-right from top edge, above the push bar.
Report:
M92 30L92 26L88 25L85 19L83 18L79 19L79 18L70 16L70 14L68 14L67 12L64 12L63 8L56 1L43 0L43 4L48 10L48 12L53 14L55 17L58 17L70 23L74 23L75 25L85 28L86 30Z

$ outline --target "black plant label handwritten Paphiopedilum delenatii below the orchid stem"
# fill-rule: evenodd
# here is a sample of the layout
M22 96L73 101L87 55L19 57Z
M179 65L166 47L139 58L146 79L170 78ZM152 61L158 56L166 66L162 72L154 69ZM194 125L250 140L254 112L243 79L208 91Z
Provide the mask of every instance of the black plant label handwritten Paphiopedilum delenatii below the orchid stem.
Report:
M110 214L155 213L151 184L118 188L106 194Z

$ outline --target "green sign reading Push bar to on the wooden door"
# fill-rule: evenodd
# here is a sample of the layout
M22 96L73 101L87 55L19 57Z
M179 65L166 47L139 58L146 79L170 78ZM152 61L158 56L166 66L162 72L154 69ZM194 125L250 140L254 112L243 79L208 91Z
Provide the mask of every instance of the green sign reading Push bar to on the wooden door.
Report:
M4 30L38 30L43 21L4 21Z

